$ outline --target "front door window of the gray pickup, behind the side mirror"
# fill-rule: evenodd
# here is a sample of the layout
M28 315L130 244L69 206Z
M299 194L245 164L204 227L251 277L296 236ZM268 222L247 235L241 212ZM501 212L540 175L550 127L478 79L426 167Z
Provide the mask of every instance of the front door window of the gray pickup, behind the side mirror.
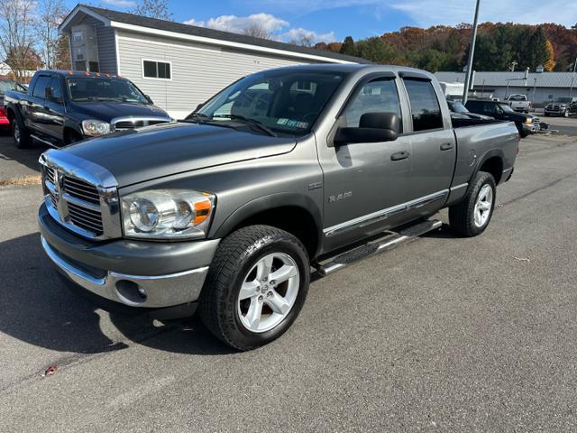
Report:
M365 113L395 113L401 118L397 85L392 78L377 78L356 90L344 110L348 127L359 127Z

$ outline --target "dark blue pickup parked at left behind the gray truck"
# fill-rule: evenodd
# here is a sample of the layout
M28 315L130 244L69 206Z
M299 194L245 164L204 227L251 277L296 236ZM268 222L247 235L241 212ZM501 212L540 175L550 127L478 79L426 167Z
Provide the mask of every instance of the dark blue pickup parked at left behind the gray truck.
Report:
M5 94L14 143L60 147L114 131L171 122L132 81L99 73L41 70L27 92Z

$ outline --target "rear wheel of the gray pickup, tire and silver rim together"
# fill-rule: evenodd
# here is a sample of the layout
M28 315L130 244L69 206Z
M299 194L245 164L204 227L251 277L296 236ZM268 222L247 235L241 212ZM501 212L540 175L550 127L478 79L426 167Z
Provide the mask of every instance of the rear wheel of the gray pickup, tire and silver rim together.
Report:
M466 237L481 235L493 216L496 191L495 179L490 173L477 173L463 201L449 207L451 228Z

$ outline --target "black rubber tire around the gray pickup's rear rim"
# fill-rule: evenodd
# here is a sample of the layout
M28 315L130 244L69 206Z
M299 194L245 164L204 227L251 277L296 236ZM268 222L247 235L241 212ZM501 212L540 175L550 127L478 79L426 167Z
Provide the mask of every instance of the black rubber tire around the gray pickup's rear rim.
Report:
M479 193L485 185L490 185L492 189L492 202L489 210L489 217L482 226L475 224L475 205ZM495 179L490 173L479 171L472 181L469 191L463 201L458 205L449 207L449 224L453 231L457 234L472 237L481 235L489 226L490 218L493 216L495 209L495 200L497 198L497 188L495 186Z

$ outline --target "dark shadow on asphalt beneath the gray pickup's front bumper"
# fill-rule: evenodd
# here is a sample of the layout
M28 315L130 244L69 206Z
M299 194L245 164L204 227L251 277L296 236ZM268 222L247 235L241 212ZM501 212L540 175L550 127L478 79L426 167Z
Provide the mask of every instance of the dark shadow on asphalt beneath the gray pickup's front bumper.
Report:
M0 333L78 354L122 350L131 342L191 355L234 353L197 318L159 322L146 314L126 316L97 309L63 283L42 251L39 234L0 243L0 257ZM108 319L114 326L106 323Z

